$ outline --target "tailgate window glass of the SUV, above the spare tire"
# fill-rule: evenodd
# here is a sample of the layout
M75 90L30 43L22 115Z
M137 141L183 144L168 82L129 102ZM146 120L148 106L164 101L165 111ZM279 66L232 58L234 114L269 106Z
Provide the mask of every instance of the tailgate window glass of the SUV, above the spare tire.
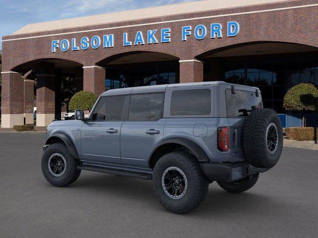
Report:
M235 94L232 94L232 90L227 89L225 95L229 118L248 116L252 106L263 108L262 97L256 97L256 93L236 90Z

